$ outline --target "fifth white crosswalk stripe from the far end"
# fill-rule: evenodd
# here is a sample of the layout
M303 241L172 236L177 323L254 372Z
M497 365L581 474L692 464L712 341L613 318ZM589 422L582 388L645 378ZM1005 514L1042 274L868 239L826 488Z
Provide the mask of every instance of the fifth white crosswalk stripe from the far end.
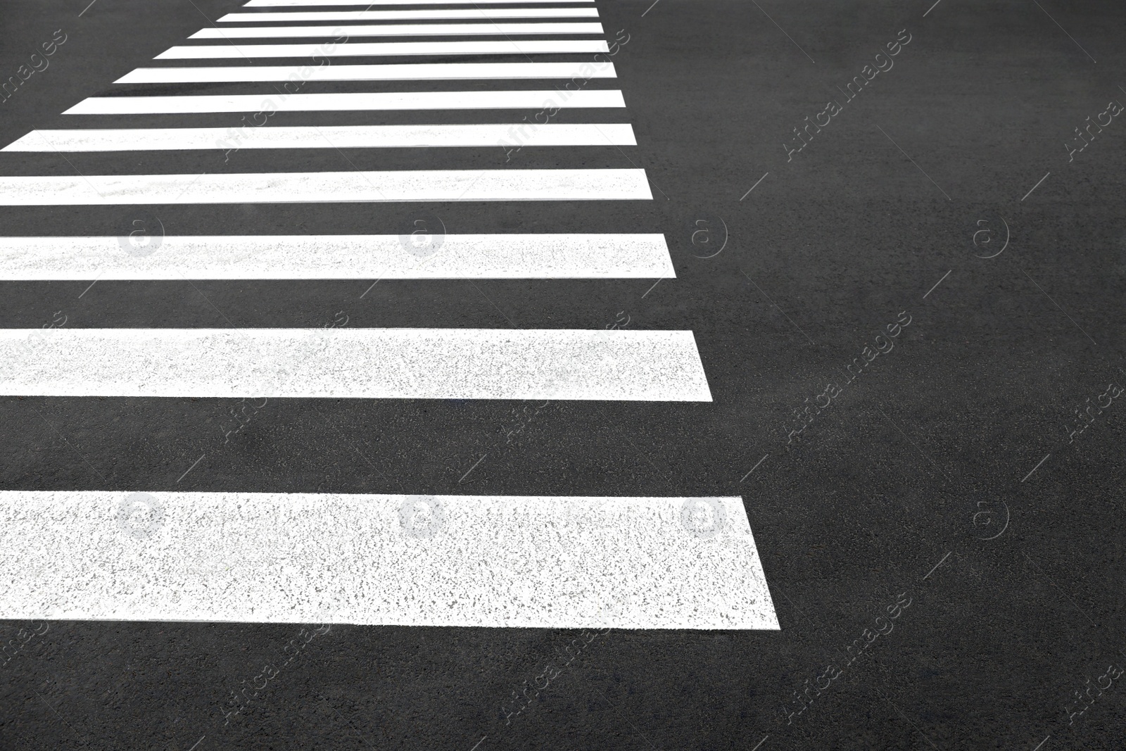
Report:
M586 68L583 66L586 65ZM298 73L298 71L301 71ZM591 65L589 63L388 63L384 65L316 65L302 69L294 65L254 65L254 66L223 66L223 68L137 68L117 79L115 83L221 83L221 82L262 82L262 81L286 81L291 77L297 80L312 81L455 81L455 80L519 80L519 79L611 79L617 78L614 65L606 63ZM493 96L518 96L526 95L527 91L419 91L397 93L386 92L356 92L348 95L351 97L374 97L390 99L395 96L413 96L423 101L440 101L441 97L465 97L470 93L480 95L480 100L470 100L461 107L472 106L473 108L489 108L489 101ZM571 101L580 95L601 95L599 90L569 90L570 97L562 96L557 90L548 91L555 99ZM260 105L262 99L274 98L280 102L291 101L298 97L327 97L343 95L300 95L283 92L277 97L272 92L259 97L245 97L247 99L258 99ZM618 95L620 97L620 93ZM140 99L141 97L110 97L111 99ZM191 102L207 101L202 97L178 96L160 97L161 99L185 99ZM590 99L591 97L588 97ZM105 102L106 97L91 97L84 101ZM410 101L409 99L406 101ZM477 101L484 104L476 104ZM543 101L543 99L540 99ZM571 105L572 107L575 105ZM79 105L81 107L81 105ZM64 114L74 114L79 107L72 107ZM431 107L425 107L431 108ZM439 109L452 109L454 107L440 107ZM123 109L120 111L129 111ZM191 110L178 110L191 111Z

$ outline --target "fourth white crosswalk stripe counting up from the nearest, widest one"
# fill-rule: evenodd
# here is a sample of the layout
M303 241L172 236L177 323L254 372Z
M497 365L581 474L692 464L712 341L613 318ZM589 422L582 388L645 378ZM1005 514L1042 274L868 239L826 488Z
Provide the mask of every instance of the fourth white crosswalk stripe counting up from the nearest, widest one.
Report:
M640 169L0 177L0 206L652 198Z

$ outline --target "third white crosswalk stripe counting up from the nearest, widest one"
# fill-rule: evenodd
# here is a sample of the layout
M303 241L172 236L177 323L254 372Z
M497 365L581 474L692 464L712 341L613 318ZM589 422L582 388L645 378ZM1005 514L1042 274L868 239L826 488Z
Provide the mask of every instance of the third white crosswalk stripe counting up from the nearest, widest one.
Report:
M677 276L662 234L448 234L420 236L415 247L413 229L404 236L0 238L0 280Z

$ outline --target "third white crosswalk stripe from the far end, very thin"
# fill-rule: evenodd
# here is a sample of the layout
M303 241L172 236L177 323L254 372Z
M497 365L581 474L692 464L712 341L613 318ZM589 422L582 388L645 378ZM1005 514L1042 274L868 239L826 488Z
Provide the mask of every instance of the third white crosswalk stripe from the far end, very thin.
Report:
M504 36L508 34L605 34L601 24L386 24L369 26L224 26L203 28L189 39L251 39L354 36Z

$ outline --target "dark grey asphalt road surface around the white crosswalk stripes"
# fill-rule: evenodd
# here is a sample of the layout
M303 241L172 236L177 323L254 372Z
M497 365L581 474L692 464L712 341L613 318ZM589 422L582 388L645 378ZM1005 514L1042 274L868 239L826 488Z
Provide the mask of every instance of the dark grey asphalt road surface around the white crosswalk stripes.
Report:
M5 1L0 78L55 29L68 35L0 105L5 144L64 127L57 113L240 2L98 0L80 18L84 5ZM1064 143L1109 100L1126 102L1126 8L598 5L608 32L629 34L614 62L640 145L518 160L632 160L650 176L649 205L154 211L169 233L189 234L397 231L420 211L458 232L663 231L677 279L651 290L383 281L364 298L370 280L99 281L84 294L87 283L7 283L0 325L37 328L56 311L71 327L321 325L342 311L365 327L604 328L624 312L631 328L695 331L713 403L553 403L458 484L518 404L275 400L224 445L223 400L5 397L0 486L741 494L781 631L611 631L507 724L512 692L574 633L337 626L224 726L229 694L301 626L51 623L0 667L0 748L1123 748L1126 688L1105 676L1126 664L1126 405L1073 442L1065 426L1126 382L1126 120L1071 162ZM838 87L901 29L911 41L894 68L844 101ZM793 128L829 99L841 110L787 161ZM383 122L456 122L411 117ZM503 167L500 149L464 151L458 163ZM254 171L276 157L6 154L0 172ZM422 150L347 158L361 169L431 163ZM294 160L347 169L342 155ZM2 209L0 233L118 234L131 211ZM694 244L704 217L721 229L707 220L713 243ZM698 258L724 224L723 251ZM1004 252L976 257L1003 236L975 245L974 233L1003 225ZM846 366L901 312L911 323L895 348L846 384ZM828 383L841 395L787 444L803 424L794 411ZM849 662L866 629L888 625ZM43 625L5 622L0 636L20 628ZM815 696L801 714L798 695Z

